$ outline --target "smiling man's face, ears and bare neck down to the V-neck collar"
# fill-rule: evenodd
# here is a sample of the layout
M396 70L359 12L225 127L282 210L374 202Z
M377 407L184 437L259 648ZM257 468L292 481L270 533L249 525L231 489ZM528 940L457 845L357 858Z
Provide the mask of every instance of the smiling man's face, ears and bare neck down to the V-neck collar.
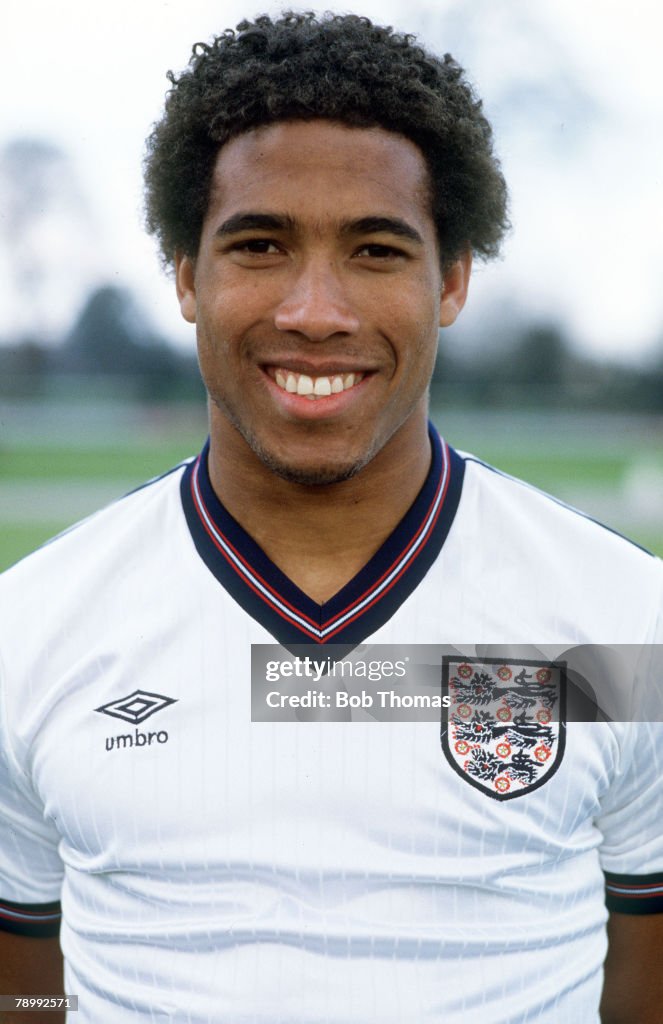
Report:
M214 493L321 604L428 473L438 331L463 305L471 258L443 270L430 202L408 138L278 122L223 146L196 256L175 254Z

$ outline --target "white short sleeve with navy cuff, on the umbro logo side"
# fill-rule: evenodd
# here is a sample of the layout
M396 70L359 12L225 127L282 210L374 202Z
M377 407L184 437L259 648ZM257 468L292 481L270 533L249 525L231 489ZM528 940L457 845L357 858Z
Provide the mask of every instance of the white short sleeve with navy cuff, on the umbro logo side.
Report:
M57 935L63 862L59 836L12 756L0 675L0 929Z

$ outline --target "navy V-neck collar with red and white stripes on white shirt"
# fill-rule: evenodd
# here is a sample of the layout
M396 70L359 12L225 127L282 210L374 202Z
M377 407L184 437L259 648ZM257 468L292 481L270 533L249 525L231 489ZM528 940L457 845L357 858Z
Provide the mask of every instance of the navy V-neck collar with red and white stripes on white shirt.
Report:
M430 469L414 503L364 568L324 604L289 580L221 505L209 479L209 441L181 479L184 514L199 555L279 643L361 643L419 585L458 507L464 462L432 426L429 436Z

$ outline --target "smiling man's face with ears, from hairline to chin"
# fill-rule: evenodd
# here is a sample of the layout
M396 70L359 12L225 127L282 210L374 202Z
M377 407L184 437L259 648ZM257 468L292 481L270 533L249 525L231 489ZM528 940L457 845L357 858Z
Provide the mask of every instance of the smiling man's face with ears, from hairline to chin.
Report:
M404 136L312 121L232 139L198 256L177 260L213 426L287 479L354 475L425 421L468 266L443 294L428 173Z

